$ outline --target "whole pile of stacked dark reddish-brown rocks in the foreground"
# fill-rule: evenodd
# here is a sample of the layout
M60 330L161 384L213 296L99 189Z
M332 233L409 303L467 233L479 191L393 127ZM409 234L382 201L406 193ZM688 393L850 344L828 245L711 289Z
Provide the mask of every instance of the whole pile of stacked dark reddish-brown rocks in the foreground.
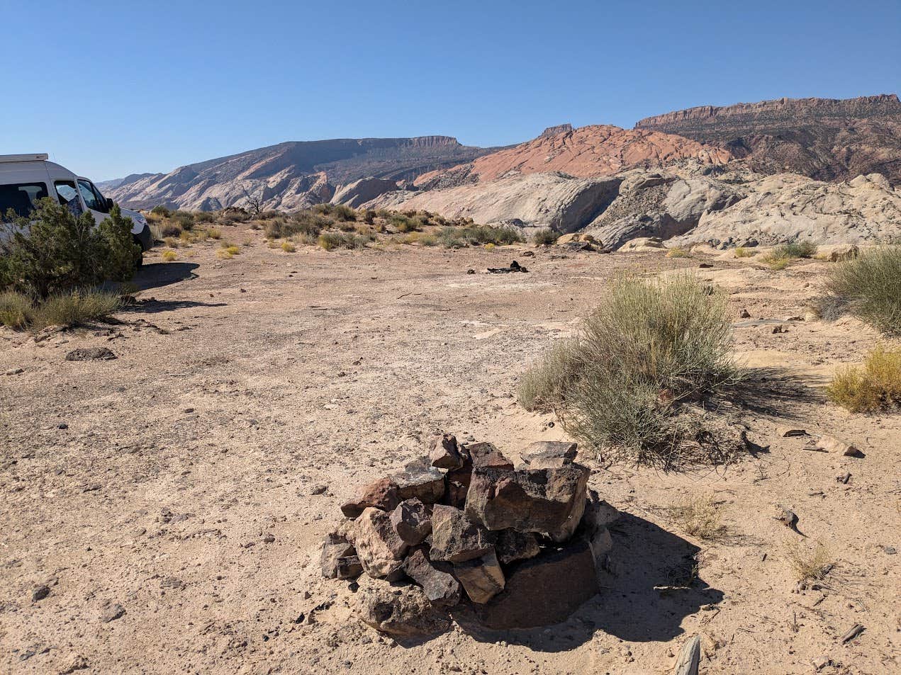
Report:
M396 635L446 626L461 602L490 628L559 623L598 592L618 516L576 455L541 441L514 468L490 443L445 434L341 506L350 520L326 538L323 576L394 582L366 589L360 614Z

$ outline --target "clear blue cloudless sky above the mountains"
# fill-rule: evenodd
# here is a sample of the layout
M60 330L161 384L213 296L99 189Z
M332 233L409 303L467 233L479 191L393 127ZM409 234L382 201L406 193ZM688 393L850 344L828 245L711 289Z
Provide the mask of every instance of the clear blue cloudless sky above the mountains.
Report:
M901 89L901 1L0 0L0 154L96 180L284 140L469 145Z

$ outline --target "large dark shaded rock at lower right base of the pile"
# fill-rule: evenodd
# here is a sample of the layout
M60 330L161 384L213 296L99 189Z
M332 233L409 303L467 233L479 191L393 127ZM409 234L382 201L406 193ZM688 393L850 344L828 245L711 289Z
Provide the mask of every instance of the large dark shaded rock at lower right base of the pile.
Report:
M494 630L551 626L565 621L598 590L594 555L587 541L578 537L514 563L504 590L480 609L478 618Z

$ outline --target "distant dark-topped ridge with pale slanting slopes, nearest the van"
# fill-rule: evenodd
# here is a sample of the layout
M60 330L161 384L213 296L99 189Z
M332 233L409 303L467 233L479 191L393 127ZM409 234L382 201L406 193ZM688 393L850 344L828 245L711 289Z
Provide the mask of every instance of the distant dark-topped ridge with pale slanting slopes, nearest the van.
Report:
M280 143L179 166L168 174L110 181L114 187L108 196L134 208L165 204L191 210L243 206L250 198L259 198L265 209L296 211L330 201L335 185L365 177L394 183L413 180L494 149L463 146L449 136Z

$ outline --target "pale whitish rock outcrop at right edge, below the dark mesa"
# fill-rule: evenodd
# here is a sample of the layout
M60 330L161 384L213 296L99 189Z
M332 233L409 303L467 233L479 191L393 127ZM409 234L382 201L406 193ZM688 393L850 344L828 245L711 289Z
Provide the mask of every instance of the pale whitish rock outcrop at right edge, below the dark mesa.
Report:
M705 213L695 229L673 243L726 247L806 239L854 244L901 236L901 191L892 189L883 175L860 175L834 184L778 174L744 187L747 197L721 211Z

